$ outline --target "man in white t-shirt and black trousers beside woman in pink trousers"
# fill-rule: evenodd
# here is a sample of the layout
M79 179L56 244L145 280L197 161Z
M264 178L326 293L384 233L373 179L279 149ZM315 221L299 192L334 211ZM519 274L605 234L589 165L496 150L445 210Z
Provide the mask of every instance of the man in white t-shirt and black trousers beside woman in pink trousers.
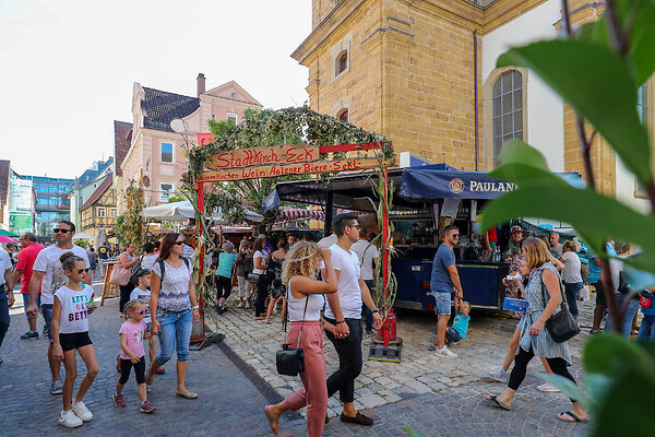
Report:
M340 392L344 404L342 422L371 426L373 420L355 410L355 378L361 373L361 304L373 312L373 328L382 327L380 311L361 277L359 259L350 247L359 239L359 225L354 213L338 214L334 218L336 244L330 247L332 264L336 272L338 290L327 295L325 320L336 327L325 335L338 355L338 369L327 377L327 397ZM323 272L323 276L325 273Z

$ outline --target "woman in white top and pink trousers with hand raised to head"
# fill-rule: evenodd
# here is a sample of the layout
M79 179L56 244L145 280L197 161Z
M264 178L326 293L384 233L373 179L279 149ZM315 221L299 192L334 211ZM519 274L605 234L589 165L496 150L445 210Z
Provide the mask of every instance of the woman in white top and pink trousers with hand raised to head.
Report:
M317 281L321 259L325 263L323 281ZM279 433L279 416L287 410L307 405L307 435L322 436L327 412L327 368L323 354L323 326L321 309L323 294L336 292L337 280L332 267L332 252L315 243L299 241L289 250L282 270L282 282L287 285L288 314L291 328L287 344L298 344L305 352L305 371L300 373L303 388L276 405L266 405L264 412L271 430ZM305 309L307 306L307 310Z

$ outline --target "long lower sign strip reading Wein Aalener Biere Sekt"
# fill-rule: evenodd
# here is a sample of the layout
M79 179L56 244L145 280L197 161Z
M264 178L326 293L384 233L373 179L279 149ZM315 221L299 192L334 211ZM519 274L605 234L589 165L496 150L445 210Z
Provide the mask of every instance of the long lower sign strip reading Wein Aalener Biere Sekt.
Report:
M251 168L204 172L200 175L196 181L203 184L222 180L258 179L287 175L353 172L358 169L376 168L378 166L380 166L380 162L374 157L340 161L317 161L312 163L297 163L289 165L264 165Z

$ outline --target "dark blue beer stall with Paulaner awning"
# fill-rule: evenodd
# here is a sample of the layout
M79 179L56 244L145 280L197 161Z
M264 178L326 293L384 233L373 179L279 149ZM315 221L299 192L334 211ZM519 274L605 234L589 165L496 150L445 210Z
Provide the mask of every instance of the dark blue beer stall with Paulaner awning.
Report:
M432 259L449 224L460 227L455 246L456 267L465 299L474 308L502 308L502 277L509 263L489 261L483 256L481 237L476 231L485 203L514 188L513 184L489 178L485 173L458 172L445 164L389 169L394 199L390 217L396 256L391 265L397 279L395 306L431 310ZM276 186L281 200L322 205L325 209L325 235L331 233L334 209L374 213L368 199L374 199L373 173L348 174L330 180L299 180ZM365 222L365 232L377 233Z

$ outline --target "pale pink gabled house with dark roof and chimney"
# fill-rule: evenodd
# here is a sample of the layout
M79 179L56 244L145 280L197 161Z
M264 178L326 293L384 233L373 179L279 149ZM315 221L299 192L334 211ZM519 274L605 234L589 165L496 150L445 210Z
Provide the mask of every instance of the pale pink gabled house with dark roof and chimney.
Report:
M205 91L204 74L198 75L198 96L189 97L134 83L132 95L132 128L127 135L129 150L120 163L119 213L126 205L122 191L130 180L140 182L145 191L146 206L166 203L181 185L188 168L183 138L172 131L170 121L182 119L189 142L198 133L209 133L209 119L242 121L246 109L262 105L238 83L231 81ZM123 128L124 122L120 128ZM115 128L116 130L116 128ZM119 141L120 138L117 139ZM118 153L118 152L117 152ZM118 174L118 170L117 170Z

